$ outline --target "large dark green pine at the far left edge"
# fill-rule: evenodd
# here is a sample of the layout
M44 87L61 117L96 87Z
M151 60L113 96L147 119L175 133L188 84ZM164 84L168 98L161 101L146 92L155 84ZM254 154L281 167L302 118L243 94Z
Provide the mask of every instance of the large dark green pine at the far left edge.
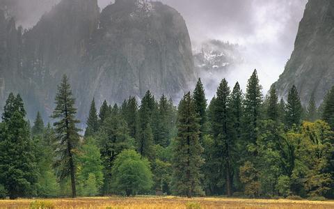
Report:
M38 180L28 123L22 99L11 93L6 101L0 126L0 185L10 199L35 194Z

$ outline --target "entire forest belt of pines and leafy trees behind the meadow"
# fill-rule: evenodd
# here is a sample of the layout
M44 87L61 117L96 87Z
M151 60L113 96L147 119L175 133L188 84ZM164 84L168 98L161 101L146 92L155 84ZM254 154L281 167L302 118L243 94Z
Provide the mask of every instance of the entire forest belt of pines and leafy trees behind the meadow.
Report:
M64 196L236 196L334 198L334 88L303 107L295 86L262 95L223 79L208 102L199 79L180 104L148 91L122 104L92 98L86 130L63 76L45 124L26 119L10 93L0 123L0 198ZM84 135L81 133L84 132Z

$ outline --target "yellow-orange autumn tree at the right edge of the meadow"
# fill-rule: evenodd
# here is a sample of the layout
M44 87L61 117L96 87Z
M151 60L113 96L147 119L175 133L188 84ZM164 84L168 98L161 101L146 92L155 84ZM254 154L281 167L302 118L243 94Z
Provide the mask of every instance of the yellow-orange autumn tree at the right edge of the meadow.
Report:
M305 189L308 196L327 196L333 179L331 159L333 156L331 127L324 121L305 122L299 134L292 134L296 150L296 167L292 173L294 192Z

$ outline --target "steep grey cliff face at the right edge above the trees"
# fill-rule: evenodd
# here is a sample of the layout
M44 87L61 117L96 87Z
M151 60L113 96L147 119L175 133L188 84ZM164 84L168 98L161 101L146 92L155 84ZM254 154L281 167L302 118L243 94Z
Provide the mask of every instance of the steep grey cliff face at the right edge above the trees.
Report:
M276 82L281 97L296 85L303 104L320 104L334 85L334 1L310 0L299 25L294 52Z

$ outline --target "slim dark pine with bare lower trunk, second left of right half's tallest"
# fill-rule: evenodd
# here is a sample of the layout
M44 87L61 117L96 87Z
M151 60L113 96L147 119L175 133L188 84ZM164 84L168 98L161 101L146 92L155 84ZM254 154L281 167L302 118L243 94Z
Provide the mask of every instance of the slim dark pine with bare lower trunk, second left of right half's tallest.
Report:
M215 158L217 161L217 173L225 178L226 192L232 195L232 148L234 140L232 132L232 120L230 111L230 87L228 82L223 79L216 93L214 102L214 143Z

